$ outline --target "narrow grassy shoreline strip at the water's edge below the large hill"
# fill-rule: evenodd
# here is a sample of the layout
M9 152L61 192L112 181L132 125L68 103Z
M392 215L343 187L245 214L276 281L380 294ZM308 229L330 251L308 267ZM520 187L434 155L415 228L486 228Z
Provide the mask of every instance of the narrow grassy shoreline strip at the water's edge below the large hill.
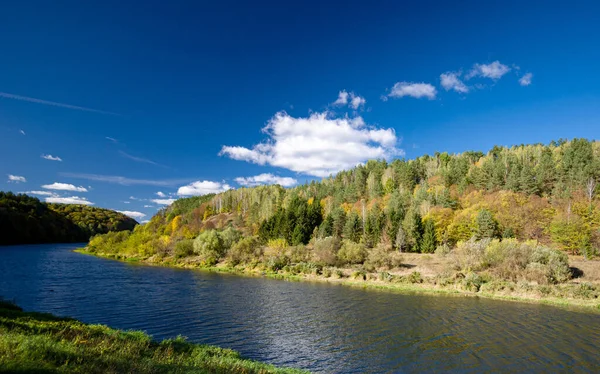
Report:
M540 297L534 294L526 294L522 292L486 292L486 291L469 291L456 287L456 284L452 284L453 287L441 286L438 284L431 284L426 282L429 281L428 277L421 278L420 282L415 283L404 283L404 282L390 282L374 278L376 274L368 273L362 274L363 279L353 279L352 276L345 276L336 278L333 276L326 277L324 275L316 274L293 274L289 272L270 272L261 269L248 269L246 267L230 267L230 266L198 266L191 263L181 262L167 262L167 261L153 261L149 258L139 257L127 257L119 256L114 254L99 254L87 251L85 248L75 249L74 252L104 258L108 260L115 260L126 263L136 263L148 266L161 266L169 267L174 269L188 269L206 271L212 273L222 274L233 274L238 276L249 276L249 277L264 277L270 279L287 280L295 282L315 282L315 283L327 283L335 284L346 287L362 288L369 290L378 290L385 292L396 292L402 294L423 294L423 295L438 295L438 296L451 296L451 297L480 297L490 300L510 301L510 302L523 302L528 304L541 304L549 305L560 308L567 308L573 311L586 312L586 313L600 313L600 300L599 299L576 299L576 298L559 298L559 297ZM339 269L341 271L348 272L348 268ZM553 285L550 287L558 287L559 285Z

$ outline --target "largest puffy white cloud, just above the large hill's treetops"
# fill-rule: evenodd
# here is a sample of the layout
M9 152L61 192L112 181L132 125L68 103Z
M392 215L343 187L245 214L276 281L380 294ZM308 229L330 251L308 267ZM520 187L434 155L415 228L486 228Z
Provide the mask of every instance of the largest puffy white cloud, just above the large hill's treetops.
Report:
M330 118L324 112L295 118L279 112L262 130L268 136L263 143L252 149L223 146L219 154L318 177L366 160L404 154L396 148L394 129L367 126L362 117Z

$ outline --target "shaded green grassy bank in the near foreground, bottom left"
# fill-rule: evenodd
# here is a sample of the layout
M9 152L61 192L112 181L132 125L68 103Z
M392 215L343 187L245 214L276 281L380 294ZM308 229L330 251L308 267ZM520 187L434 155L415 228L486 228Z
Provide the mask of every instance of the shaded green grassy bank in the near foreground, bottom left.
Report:
M157 342L139 331L24 312L0 300L0 372L299 373L184 338Z

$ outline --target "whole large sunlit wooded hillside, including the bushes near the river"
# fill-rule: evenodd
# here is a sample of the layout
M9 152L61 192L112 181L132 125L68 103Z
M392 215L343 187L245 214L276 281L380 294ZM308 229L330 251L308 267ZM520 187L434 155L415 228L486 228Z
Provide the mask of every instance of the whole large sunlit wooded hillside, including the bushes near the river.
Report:
M131 234L93 238L87 251L186 267L362 274L434 287L479 291L487 284L491 292L525 287L543 297L595 298L600 287L577 287L597 283L597 267L586 267L590 274L582 277L567 255L598 255L599 174L600 143L585 139L374 160L295 188L180 199ZM436 257L422 261L409 253ZM429 266L434 263L443 266ZM566 288L544 288L574 277Z

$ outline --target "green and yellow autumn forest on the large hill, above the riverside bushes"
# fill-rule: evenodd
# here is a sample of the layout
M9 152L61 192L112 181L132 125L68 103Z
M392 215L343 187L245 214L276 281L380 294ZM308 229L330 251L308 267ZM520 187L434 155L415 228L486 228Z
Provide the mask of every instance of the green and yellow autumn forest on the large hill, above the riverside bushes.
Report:
M351 250L361 254L354 260L360 263L373 251L431 253L471 238L515 238L594 256L599 177L600 143L586 139L371 160L294 188L180 199L131 234L96 237L90 248L144 256L209 253L207 262L215 262L234 256L227 246L248 247L250 261L259 245L306 245L312 261L333 263Z

